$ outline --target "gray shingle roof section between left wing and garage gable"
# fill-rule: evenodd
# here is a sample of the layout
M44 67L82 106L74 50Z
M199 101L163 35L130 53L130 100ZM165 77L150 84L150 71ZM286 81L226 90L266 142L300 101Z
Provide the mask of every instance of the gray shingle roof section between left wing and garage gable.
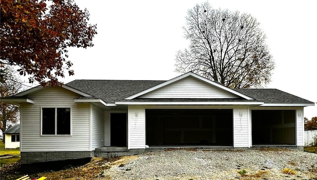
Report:
M123 100L164 80L73 80L67 86L100 98L106 103Z

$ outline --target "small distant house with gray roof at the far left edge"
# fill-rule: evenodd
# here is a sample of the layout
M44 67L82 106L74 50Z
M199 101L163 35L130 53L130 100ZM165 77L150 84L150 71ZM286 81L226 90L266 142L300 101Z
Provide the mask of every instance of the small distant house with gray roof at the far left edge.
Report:
M15 124L6 131L4 135L4 148L17 148L20 147L20 124Z

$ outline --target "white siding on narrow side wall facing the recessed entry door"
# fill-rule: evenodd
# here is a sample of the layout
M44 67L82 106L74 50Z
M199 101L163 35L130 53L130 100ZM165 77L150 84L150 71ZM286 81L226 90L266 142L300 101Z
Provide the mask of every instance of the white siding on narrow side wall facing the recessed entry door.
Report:
M91 105L92 150L104 146L104 111Z

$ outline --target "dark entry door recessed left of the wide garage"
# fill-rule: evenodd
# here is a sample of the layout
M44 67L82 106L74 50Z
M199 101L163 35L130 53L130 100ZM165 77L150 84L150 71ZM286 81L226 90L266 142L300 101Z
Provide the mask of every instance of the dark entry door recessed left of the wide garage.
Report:
M110 115L110 145L127 146L127 114L111 113Z

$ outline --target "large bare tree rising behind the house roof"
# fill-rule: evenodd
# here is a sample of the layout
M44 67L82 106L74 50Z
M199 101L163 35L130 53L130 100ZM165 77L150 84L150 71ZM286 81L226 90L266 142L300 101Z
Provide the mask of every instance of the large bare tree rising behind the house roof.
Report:
M274 62L260 23L250 14L214 9L208 2L189 9L188 49L176 54L177 72L195 72L230 88L262 87Z

